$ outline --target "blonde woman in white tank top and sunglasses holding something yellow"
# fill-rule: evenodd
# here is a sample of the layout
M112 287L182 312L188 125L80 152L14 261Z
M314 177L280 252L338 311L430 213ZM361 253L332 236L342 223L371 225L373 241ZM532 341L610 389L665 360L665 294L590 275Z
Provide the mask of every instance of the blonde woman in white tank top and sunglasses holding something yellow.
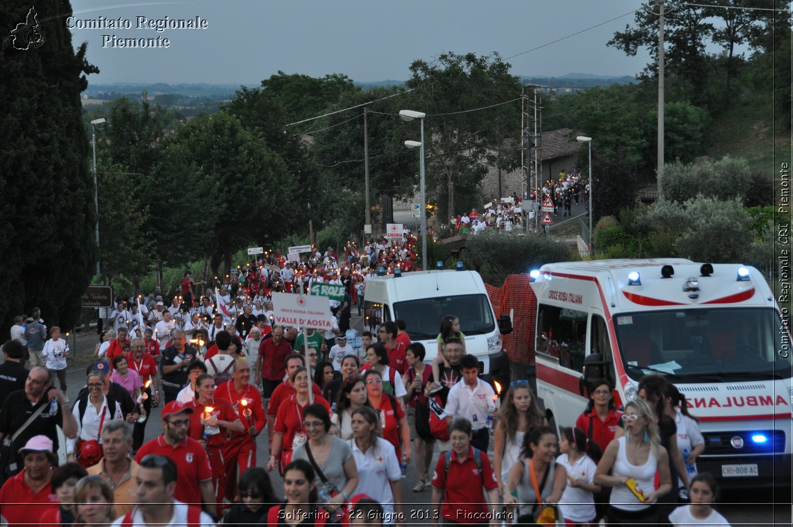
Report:
M596 485L613 487L608 510L610 525L658 522L659 497L672 489L668 454L661 446L653 410L646 401L625 405L625 433L612 440L595 472ZM655 473L661 484L655 488Z

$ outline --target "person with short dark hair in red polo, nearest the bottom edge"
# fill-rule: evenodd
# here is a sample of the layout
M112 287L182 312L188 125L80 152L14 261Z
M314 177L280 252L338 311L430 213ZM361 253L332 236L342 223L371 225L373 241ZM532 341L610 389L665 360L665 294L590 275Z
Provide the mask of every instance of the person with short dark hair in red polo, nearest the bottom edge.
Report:
M452 449L445 456L440 456L432 475L432 506L435 511L432 524L439 525L440 517L454 523L499 524L496 517L498 482L487 454L470 444L471 421L455 419L449 432ZM446 456L450 456L448 473ZM478 464L476 456L479 456ZM482 487L487 490L487 497Z

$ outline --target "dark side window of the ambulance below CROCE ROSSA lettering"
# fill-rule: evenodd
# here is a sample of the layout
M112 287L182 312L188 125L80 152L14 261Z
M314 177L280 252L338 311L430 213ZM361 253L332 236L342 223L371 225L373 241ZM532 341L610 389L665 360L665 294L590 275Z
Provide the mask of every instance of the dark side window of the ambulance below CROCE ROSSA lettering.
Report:
M587 314L556 306L538 306L535 352L557 358L559 365L584 371Z

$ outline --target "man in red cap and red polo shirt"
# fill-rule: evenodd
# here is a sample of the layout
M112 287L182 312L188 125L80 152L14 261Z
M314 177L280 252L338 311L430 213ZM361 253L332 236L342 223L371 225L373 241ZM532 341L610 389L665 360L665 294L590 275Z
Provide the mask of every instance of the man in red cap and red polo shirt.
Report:
M198 505L216 514L215 496L212 489L212 469L204 447L197 440L187 437L192 406L171 401L163 407L163 435L145 443L135 455L136 463L148 454L157 454L173 460L178 468L178 484L175 498L180 502Z

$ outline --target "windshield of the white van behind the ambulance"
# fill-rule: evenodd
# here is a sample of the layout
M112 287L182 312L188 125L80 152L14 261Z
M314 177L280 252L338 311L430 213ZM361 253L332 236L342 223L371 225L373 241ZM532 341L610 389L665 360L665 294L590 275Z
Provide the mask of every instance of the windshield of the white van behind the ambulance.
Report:
M408 326L411 340L438 337L444 315L460 319L460 331L465 333L465 337L491 333L496 329L490 301L485 294L421 298L397 302L393 308L394 318L401 318Z

